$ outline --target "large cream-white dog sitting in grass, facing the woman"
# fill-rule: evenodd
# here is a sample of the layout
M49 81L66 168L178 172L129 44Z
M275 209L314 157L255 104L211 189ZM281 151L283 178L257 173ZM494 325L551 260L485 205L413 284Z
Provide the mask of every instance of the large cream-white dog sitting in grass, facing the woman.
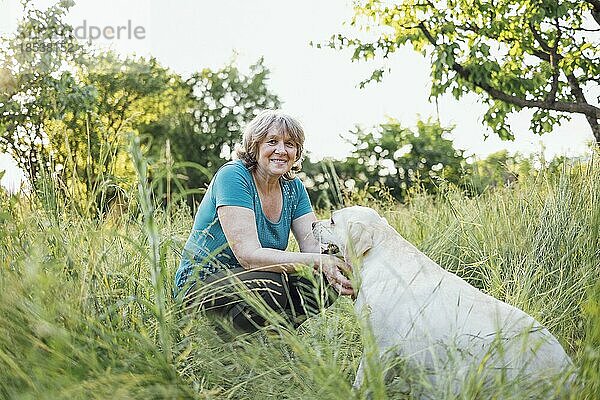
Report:
M432 387L450 382L454 392L473 373L485 382L501 373L535 384L572 366L533 317L444 270L375 210L334 211L330 220L314 223L313 235L330 252L337 247L353 267L354 309L371 328L379 361L400 356L425 371ZM355 388L367 362L363 353Z

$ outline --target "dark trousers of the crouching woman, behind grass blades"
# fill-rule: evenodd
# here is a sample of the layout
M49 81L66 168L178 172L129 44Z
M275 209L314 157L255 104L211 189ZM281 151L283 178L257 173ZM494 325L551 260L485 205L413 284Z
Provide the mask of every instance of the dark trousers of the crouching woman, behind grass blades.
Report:
M297 327L333 304L337 293L324 276L307 279L295 274L233 268L196 282L185 298L186 308L224 318L243 332L268 324L276 312Z

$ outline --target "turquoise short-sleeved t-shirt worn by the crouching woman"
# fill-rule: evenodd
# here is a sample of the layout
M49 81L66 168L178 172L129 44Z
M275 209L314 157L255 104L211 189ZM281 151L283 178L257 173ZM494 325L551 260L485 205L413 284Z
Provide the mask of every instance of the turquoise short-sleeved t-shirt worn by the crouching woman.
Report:
M220 206L251 209L261 246L279 250L287 248L292 221L311 212L312 206L300 179L279 179L279 183L283 207L279 221L272 222L264 215L252 174L241 160L230 161L217 171L198 207L175 274L178 290L185 286L190 276L203 280L218 271L220 265L226 268L240 266L221 228L217 216Z

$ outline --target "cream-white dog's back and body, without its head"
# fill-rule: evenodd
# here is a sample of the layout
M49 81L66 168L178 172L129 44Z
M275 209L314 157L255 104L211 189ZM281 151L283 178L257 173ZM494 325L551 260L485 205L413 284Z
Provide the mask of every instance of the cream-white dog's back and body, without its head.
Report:
M543 379L571 365L533 317L444 270L397 233L393 243L364 257L356 303L358 313L368 307L382 354L393 350L435 371L434 381L461 382L477 371Z

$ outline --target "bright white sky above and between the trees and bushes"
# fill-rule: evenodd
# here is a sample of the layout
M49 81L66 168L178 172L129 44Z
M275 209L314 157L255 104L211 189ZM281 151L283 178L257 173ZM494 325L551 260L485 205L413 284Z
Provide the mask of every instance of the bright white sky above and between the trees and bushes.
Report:
M40 8L53 3L36 1ZM21 15L18 0L0 0L0 34L14 31ZM359 89L358 83L381 62L351 62L349 50L310 46L311 41L352 32L346 23L351 16L350 0L76 0L67 21L86 27L88 37L92 27L140 27L138 38L122 30L119 39L100 38L93 44L121 54L154 56L184 76L234 59L244 71L264 57L271 71L269 88L282 108L303 123L305 147L314 159L348 155L350 147L340 135L356 124L373 126L388 117L407 127L418 119L439 118L443 125L455 126L455 146L467 155L485 157L501 149L525 154L543 149L546 157L586 152L592 135L582 116L540 137L529 132L531 112L521 112L510 119L516 140L505 142L484 127L485 106L475 95L430 102L427 60L411 49L391 57L385 64L391 73L382 82ZM2 169L7 169L2 184L16 187L20 174L6 155L0 155Z

